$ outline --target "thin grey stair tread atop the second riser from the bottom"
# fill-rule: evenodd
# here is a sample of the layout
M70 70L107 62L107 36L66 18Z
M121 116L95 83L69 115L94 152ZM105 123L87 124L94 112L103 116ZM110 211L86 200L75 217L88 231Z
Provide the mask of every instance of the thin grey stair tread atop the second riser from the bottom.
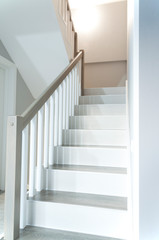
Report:
M126 168L120 167L99 167L99 166L85 166L85 165L69 165L69 164L55 164L49 169L54 170L69 170L69 171L84 171L84 172L98 172L98 173L112 173L112 174L126 174Z

